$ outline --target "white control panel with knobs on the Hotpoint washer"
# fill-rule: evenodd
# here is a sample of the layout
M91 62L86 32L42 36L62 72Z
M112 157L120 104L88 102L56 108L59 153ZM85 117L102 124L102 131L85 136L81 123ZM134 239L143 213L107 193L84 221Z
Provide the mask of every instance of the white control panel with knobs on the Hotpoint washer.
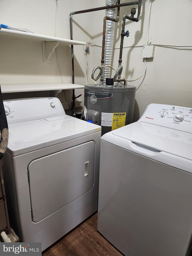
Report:
M192 133L192 107L150 104L138 120L141 121Z

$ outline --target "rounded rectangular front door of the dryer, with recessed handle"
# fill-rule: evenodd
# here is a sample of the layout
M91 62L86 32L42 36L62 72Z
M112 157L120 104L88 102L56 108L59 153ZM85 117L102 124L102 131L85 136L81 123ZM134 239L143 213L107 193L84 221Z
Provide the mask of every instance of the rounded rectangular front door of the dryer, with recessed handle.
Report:
M94 161L94 141L33 160L28 166L33 221L42 220L90 191Z

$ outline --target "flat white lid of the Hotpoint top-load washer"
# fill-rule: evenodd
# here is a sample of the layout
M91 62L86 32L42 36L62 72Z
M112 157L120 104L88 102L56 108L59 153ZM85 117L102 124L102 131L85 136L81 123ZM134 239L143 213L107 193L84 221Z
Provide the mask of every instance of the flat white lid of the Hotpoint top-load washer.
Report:
M192 160L192 133L145 122L136 122L110 133L158 151ZM104 134L102 139L113 143L113 136ZM122 148L125 148L123 144Z

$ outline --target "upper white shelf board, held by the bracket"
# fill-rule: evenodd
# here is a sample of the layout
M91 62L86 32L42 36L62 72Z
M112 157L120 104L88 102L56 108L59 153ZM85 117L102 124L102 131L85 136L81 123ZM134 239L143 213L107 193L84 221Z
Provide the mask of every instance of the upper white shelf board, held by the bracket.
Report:
M11 29L0 29L0 36L4 37L17 37L17 38L23 38L23 39L35 39L39 41L57 41L60 44L73 44L73 45L85 45L85 42L76 41L76 40L70 40L70 39L64 39L64 38L58 38L53 36L46 36L46 35L40 35L35 33L28 33L23 31L17 31L17 30L11 30Z

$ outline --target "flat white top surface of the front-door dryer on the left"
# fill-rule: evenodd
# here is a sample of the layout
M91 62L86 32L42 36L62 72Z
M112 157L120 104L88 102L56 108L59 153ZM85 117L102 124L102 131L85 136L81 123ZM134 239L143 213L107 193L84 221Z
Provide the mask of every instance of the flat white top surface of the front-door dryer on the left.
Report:
M10 124L7 152L21 155L101 131L101 126L71 116Z

